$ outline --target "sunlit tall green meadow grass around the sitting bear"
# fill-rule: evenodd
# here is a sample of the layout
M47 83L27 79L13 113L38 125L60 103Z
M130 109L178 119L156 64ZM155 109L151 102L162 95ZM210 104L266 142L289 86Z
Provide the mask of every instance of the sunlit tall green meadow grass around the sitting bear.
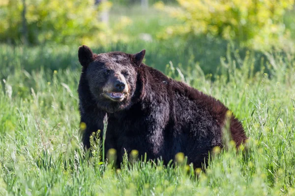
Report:
M269 54L262 63L268 74L263 66L255 72L254 64L260 60L255 55L246 53L241 59L230 49L221 58L218 75L204 73L194 61L182 73L174 61L174 65L166 67L166 62L160 67L220 99L250 137L246 154L236 152L231 143L227 150L215 149L204 173L186 166L181 156L176 168L157 160L128 167L125 157L121 170L101 163L99 148L89 157L79 135L77 49L0 48L0 195L295 194L295 65L291 54ZM162 55L161 50L154 50L147 54ZM158 59L154 67L160 64Z

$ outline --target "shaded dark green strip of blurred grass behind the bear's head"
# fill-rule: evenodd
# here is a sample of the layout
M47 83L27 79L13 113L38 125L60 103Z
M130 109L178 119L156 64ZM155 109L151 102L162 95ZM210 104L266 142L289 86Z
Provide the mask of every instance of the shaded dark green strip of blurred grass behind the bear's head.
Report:
M227 55L229 43L224 40L207 39L204 37L188 40L165 40L145 42L142 40L126 43L114 43L108 46L92 46L95 53L109 51L123 51L137 53L146 49L145 63L165 72L167 65L172 62L182 71L199 64L205 74L220 73L220 57ZM59 69L80 69L78 62L78 45L59 46L46 45L36 47L0 45L0 73L7 76L16 67L22 67L26 71L40 70L41 68L52 71ZM239 55L244 58L246 49L239 49ZM261 58L264 54L251 51L255 70L261 67ZM231 58L236 59L234 50Z

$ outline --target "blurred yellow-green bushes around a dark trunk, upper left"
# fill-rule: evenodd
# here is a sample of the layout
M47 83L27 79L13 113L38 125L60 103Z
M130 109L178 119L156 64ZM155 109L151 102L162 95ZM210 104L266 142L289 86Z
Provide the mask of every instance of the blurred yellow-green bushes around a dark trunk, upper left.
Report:
M104 44L111 40L112 31L100 22L99 14L111 2L95 5L93 0L26 0L26 20L29 44L90 41ZM0 41L21 44L23 3L20 0L1 0Z

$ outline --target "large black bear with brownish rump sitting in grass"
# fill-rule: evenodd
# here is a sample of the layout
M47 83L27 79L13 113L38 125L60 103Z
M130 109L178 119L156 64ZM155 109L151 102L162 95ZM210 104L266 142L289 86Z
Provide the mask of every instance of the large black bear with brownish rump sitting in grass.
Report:
M183 152L188 163L202 167L213 147L224 146L222 134L228 108L142 63L145 52L94 54L87 46L79 48L79 109L81 122L86 123L83 143L89 148L90 135L103 130L107 114L105 151L115 148L118 163L124 149L128 153L137 149L139 155L161 157L164 163ZM247 137L234 116L229 122L238 146Z

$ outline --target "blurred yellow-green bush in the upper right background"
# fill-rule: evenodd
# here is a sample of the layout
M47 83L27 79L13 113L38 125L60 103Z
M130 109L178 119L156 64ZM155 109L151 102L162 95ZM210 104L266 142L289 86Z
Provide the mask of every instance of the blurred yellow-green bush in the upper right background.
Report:
M159 38L181 35L185 38L205 34L234 40L241 47L268 50L283 47L290 35L283 23L294 0L177 0L180 7L155 7L182 22L166 29Z

